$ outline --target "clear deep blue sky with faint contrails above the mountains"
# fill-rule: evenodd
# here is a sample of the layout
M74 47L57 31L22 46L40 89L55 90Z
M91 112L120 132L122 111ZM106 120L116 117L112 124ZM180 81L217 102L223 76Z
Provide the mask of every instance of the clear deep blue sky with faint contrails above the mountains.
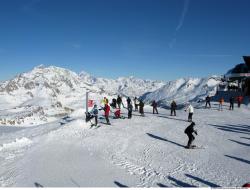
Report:
M35 66L153 80L250 55L249 0L0 0L0 80Z

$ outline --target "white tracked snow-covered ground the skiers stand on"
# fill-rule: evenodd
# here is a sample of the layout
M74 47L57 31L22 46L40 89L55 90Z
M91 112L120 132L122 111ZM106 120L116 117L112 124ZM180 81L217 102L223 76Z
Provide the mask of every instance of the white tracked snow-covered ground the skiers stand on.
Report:
M204 149L194 150L184 148L183 110L171 117L146 106L146 117L99 128L81 109L38 126L0 126L0 186L240 187L250 181L250 110L216 109L195 109L194 144Z

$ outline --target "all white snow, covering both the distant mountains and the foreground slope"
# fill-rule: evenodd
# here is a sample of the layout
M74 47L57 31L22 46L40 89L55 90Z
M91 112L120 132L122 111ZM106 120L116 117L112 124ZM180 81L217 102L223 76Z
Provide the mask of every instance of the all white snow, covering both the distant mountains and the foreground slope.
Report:
M250 109L229 111L225 104L220 112L216 102L204 109L200 100L220 83L216 76L104 79L54 66L2 82L0 187L241 187L250 181ZM146 117L111 116L111 126L99 119L100 127L91 127L85 123L86 91L98 107L103 97L120 94L125 103L127 96L141 96ZM159 115L147 104L152 100L162 107ZM163 108L172 100L195 106L194 144L203 148L184 148L188 113L169 116Z

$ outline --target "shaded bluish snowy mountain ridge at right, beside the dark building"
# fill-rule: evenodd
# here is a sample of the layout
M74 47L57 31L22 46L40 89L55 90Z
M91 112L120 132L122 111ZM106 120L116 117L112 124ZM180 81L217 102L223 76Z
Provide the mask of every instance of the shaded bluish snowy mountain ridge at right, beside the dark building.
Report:
M216 76L181 78L168 82L154 92L144 94L142 99L147 103L156 100L162 107L169 107L171 102L175 100L179 106L183 106L187 102L195 103L204 100L207 95L213 96L220 82L221 78Z

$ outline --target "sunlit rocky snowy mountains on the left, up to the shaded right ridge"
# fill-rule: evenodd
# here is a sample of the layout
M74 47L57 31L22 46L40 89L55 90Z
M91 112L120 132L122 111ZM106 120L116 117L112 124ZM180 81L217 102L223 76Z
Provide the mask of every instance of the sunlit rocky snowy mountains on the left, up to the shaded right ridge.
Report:
M78 75L64 68L41 65L0 83L0 105L5 107L0 124L35 125L54 121L79 106L84 107L86 91L90 91L90 98L99 104L104 96L109 99L118 94L141 96L163 85L163 82L133 77L95 78L86 72Z

